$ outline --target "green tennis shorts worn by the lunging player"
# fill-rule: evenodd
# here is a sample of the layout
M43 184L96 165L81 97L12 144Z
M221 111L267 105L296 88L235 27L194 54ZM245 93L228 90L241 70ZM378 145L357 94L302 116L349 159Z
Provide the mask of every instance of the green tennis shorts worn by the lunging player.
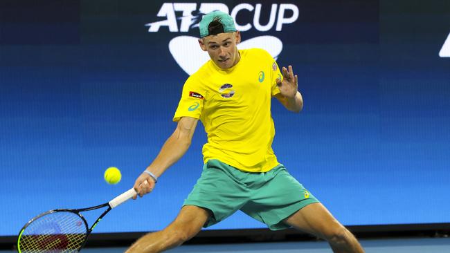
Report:
M278 230L289 227L282 222L285 218L312 203L318 200L281 164L264 173L251 173L209 160L183 205L203 207L213 213L204 227L241 210L269 229Z

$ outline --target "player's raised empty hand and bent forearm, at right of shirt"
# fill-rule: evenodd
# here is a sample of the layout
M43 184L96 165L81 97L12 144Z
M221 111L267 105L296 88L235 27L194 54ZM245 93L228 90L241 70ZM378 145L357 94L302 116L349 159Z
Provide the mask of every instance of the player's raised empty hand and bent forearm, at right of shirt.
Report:
M282 67L283 79L276 79L280 93L276 94L275 97L286 109L298 113L303 109L303 97L298 92L297 75L294 75L292 66L289 65L288 68Z

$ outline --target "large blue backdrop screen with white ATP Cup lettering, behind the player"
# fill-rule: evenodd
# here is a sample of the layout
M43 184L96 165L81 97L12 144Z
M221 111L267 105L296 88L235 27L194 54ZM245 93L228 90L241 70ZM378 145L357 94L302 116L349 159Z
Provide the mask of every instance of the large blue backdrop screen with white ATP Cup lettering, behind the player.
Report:
M2 1L0 236L48 209L98 205L132 187L176 127L189 68L207 58L196 24L213 9L235 17L242 48L294 67L305 107L290 113L273 100L273 149L339 221L449 223L444 2ZM170 223L201 173L205 141L197 127L154 192L95 232ZM123 173L118 185L102 178L111 166ZM211 229L257 227L238 212Z

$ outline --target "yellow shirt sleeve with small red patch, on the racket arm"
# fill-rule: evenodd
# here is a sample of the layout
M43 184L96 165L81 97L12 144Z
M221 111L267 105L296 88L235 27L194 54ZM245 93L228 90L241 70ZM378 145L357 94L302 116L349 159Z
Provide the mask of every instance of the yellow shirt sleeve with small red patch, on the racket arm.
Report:
M199 80L192 75L186 80L173 118L178 122L183 117L199 119L203 109L205 91L200 88Z

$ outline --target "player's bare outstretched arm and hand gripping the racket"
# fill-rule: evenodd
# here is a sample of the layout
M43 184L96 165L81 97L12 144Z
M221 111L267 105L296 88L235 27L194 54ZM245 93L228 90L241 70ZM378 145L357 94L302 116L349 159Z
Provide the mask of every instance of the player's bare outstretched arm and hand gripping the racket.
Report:
M157 178L164 173L166 169L177 162L190 147L192 142L192 135L194 135L197 122L199 120L191 117L183 117L179 120L177 128L165 141L158 156L153 160L152 164L147 167ZM147 181L147 183L145 183ZM147 173L141 174L134 182L134 189L139 196L148 194L155 186L155 181ZM134 197L136 199L136 196Z

